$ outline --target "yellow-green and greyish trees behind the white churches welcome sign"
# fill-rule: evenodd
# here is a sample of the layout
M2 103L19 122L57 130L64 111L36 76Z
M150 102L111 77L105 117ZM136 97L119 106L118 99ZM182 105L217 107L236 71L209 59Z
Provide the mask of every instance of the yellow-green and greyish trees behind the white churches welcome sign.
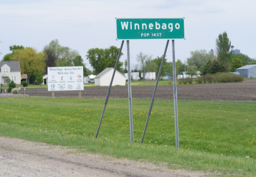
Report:
M4 55L2 61L19 61L21 74L27 74L30 84L36 78L42 78L43 74L47 74L48 67L83 66L84 76L88 75L89 70L85 68L79 52L61 46L57 39L45 45L40 52L22 45L12 45L9 50L10 53Z

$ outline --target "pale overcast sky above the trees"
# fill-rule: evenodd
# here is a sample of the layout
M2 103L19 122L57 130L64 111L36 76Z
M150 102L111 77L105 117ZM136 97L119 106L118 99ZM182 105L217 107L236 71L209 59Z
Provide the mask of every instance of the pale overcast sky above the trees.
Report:
M86 52L91 48L120 48L116 40L115 17L118 18L185 18L185 40L175 40L176 61L184 62L190 51L216 49L216 39L227 32L235 49L256 58L256 1L0 1L0 51L8 54L9 46L23 45L42 51L51 40L78 50L86 67ZM132 64L139 52L164 54L166 39L130 40ZM126 43L123 48L126 59ZM171 43L167 61L172 61Z

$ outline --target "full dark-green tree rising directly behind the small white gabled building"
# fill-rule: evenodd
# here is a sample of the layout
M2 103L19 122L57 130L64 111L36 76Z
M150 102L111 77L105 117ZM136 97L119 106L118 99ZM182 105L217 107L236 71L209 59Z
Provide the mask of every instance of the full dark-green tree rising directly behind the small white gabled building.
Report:
M92 68L94 68L94 73L97 75L102 72L102 70L110 67L115 67L117 62L117 57L119 53L119 48L115 46L110 46L106 49L89 49L87 51L86 59L89 60ZM123 53L120 54L120 57ZM118 62L117 70L123 72L123 62Z

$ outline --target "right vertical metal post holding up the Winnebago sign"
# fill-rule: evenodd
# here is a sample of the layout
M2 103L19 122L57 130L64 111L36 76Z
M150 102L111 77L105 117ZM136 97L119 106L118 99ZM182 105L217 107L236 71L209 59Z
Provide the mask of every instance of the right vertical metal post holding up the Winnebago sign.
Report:
M173 70L173 102L174 102L175 137L176 137L176 148L179 149L178 104L177 104L174 40L172 40L172 70Z

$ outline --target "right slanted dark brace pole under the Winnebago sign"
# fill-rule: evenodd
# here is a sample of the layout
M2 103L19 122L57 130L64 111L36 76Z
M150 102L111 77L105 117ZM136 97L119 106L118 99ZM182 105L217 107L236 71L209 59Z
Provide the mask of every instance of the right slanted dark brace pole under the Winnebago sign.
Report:
M165 55L166 55L166 51L167 51L167 48L168 48L168 44L169 44L169 40L167 40L167 43L166 43L166 46L165 46L165 52L164 52L164 55L162 56L162 62L161 62L159 72L158 72L158 79L156 79L155 89L154 89L153 96L152 96L151 103L150 103L150 107L149 107L149 110L148 110L148 117L147 117L146 125L145 125L144 132L143 132L143 135L142 135L142 138L141 138L141 144L143 143L144 136L145 136L146 131L147 131L149 117L150 117L151 110L152 110L154 100L155 100L155 92L156 92L156 88L158 87L158 81L160 79L160 75L161 75L161 72L162 72L162 65L164 64L164 61L165 61Z

